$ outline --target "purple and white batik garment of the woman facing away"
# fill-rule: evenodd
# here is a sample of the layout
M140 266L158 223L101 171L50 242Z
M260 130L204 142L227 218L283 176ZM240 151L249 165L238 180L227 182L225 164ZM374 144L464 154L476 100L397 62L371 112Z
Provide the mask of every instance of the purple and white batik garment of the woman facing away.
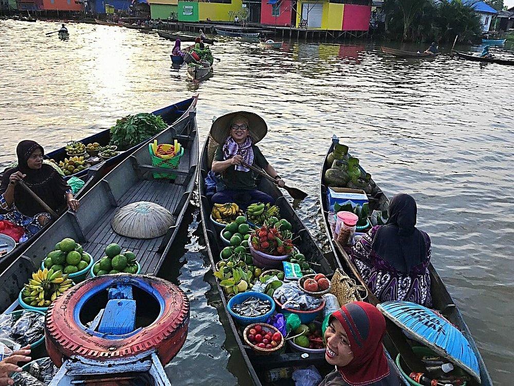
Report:
M373 251L373 241L382 225L374 226L349 251L351 259L368 288L381 302L404 300L426 307L432 306L428 265L432 255L430 238L422 232L427 245L427 258L404 274Z

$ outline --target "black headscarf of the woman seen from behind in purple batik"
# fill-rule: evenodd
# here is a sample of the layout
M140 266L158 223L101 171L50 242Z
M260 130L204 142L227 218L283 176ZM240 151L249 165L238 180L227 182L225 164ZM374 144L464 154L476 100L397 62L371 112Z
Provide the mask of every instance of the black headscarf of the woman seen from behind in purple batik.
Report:
M425 237L415 226L416 213L411 196L394 196L389 203L389 220L373 240L373 250L404 274L427 258Z

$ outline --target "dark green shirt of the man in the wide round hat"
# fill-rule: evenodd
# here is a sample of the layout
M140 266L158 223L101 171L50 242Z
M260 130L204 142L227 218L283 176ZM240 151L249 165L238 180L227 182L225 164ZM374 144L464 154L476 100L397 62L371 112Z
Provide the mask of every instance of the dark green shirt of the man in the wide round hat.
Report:
M269 165L268 161L266 161L264 155L261 153L261 150L257 146L252 145L252 150L253 166L256 165L264 169ZM216 148L216 152L214 153L214 161L225 161L223 158L223 145L218 145ZM221 176L226 189L251 190L256 189L257 187L255 185L255 179L257 176L251 170L235 170L235 166L230 165L221 173Z

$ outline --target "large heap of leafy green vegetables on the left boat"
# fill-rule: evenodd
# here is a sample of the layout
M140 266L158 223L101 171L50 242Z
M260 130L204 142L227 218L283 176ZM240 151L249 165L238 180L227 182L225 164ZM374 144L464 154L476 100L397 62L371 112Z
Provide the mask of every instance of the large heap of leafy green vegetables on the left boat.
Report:
M154 114L127 115L118 119L116 126L111 128L111 145L117 145L118 150L127 150L153 137L167 126L160 116Z

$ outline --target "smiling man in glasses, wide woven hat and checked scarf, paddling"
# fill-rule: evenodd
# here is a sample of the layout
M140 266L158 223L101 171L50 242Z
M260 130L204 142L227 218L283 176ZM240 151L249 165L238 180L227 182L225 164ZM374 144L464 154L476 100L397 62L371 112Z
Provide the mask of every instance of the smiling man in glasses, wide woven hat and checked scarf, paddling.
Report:
M266 122L259 115L239 111L223 115L212 124L211 137L218 143L211 170L219 174L220 183L212 196L215 204L235 202L245 209L248 205L263 202L274 203L274 199L257 189L256 175L244 163L263 169L285 185L277 171L269 164L261 150L255 145L266 135Z

